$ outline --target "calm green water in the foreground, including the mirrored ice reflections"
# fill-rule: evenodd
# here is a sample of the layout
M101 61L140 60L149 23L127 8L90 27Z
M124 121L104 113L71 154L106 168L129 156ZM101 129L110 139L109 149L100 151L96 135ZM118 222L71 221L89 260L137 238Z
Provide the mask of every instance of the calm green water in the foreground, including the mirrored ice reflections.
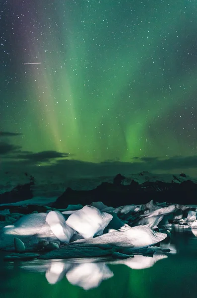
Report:
M173 254L156 258L3 262L0 298L197 297L197 237L174 233ZM122 263L123 262L123 263ZM140 268L140 269L139 269Z

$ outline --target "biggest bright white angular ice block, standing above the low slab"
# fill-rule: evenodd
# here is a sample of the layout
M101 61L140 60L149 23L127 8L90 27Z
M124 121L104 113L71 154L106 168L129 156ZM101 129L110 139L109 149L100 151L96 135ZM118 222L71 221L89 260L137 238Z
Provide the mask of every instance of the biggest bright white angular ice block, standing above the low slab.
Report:
M103 233L104 228L112 220L112 215L101 212L93 206L84 206L81 210L71 214L66 224L80 233L84 238Z

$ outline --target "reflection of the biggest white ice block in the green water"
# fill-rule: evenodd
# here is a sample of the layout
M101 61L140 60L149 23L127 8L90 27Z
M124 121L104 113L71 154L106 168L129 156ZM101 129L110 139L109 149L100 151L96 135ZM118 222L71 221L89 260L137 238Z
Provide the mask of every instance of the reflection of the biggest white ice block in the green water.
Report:
M103 280L113 277L113 272L105 263L78 264L66 273L68 282L84 290L97 288Z

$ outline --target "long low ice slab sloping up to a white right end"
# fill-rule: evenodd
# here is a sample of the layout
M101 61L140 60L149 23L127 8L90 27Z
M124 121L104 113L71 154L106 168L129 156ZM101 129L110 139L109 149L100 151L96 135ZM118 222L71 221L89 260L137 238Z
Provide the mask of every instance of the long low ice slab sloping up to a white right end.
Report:
M40 258L96 257L110 255L114 252L114 249L124 253L124 249L128 248L131 249L132 253L133 249L153 245L166 237L167 234L156 232L147 226L130 227L126 224L119 230L112 230L95 238L77 240Z

